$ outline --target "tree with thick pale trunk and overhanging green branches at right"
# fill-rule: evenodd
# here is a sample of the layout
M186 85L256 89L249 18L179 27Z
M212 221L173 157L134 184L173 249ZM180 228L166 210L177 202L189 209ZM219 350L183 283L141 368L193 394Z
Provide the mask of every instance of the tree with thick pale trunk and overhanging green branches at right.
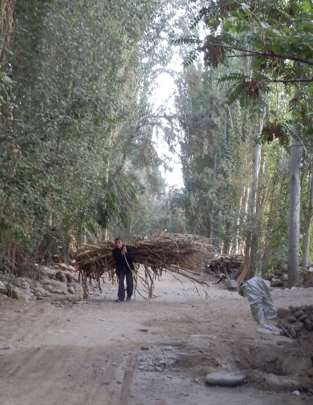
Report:
M201 7L196 17L196 21L203 22L209 32L205 39L185 39L185 42L196 44L195 50L189 54L189 61L200 52L204 53L204 63L213 67L227 63L229 57L252 58L253 75L241 77L241 81L237 76L239 80L233 90L238 97L244 92L246 96L257 99L260 92L270 91L272 83L277 82L284 83L289 87L289 93L293 93L289 287L297 281L299 273L299 156L311 125L311 114L305 107L309 103L308 95L313 93L310 85L313 81L312 13L312 5L306 0L259 0L251 5L235 0L211 2Z

